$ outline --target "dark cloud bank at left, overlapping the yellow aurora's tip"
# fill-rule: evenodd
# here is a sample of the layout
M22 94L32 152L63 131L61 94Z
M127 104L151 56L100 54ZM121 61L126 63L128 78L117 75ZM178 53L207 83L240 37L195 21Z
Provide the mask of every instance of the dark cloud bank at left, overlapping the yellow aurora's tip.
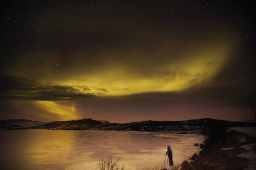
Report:
M11 75L0 75L1 100L85 100L95 99L89 92L80 92L72 86L43 84ZM89 88L83 88L89 91ZM103 90L102 90L103 91Z

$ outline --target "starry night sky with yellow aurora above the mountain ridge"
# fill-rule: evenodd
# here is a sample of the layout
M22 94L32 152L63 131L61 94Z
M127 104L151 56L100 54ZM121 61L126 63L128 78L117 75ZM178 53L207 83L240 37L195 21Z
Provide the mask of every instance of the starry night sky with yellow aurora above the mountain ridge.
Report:
M1 1L0 119L254 120L254 7Z

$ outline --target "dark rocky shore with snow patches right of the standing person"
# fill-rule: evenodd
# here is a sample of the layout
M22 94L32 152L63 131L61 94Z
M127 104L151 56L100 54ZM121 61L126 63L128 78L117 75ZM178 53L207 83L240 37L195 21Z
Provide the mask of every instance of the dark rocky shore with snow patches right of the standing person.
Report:
M256 138L230 130L218 136L208 137L205 145L200 146L199 155L194 154L185 160L179 169L255 169ZM254 158L255 159L255 158ZM255 161L255 160L254 160Z

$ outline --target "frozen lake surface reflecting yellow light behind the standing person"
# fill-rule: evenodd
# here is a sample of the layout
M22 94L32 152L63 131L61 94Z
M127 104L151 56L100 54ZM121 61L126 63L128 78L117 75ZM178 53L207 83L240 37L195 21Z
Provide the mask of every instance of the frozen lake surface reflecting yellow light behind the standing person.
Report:
M199 147L196 134L89 130L0 130L0 169L96 169L111 155L125 169L162 168L171 146L174 164Z

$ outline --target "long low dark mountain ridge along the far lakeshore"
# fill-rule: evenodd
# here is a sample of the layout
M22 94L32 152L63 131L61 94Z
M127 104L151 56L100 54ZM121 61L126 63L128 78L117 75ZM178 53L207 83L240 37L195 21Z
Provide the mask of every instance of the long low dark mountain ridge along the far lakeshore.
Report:
M52 129L52 130L124 130L124 131L201 131L210 124L226 127L256 126L256 122L230 122L203 118L187 121L141 121L126 124L110 124L91 118L72 121L38 122L25 119L0 120L0 129Z

